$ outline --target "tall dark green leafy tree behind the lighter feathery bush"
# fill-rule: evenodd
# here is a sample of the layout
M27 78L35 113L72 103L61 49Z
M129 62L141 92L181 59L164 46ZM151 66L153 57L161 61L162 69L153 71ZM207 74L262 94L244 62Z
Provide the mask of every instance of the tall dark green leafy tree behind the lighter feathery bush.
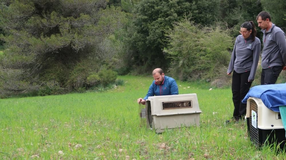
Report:
M145 70L166 67L167 60L163 48L167 46L164 31L172 29L173 23L184 16L193 17L196 23L208 24L215 20L217 0L143 0L135 9L132 35L134 64ZM144 69L143 69L144 70Z

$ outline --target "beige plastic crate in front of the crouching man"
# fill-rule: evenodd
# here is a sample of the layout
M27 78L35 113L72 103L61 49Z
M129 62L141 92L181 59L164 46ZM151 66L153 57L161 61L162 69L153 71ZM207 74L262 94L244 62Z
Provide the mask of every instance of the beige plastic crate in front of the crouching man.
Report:
M150 101L150 103L148 102ZM195 93L148 97L153 118L152 129L162 133L164 129L200 125L198 99Z

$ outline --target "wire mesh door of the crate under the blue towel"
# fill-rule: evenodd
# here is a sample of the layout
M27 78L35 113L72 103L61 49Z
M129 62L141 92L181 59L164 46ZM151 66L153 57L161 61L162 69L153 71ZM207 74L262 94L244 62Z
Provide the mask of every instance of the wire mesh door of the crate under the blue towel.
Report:
M255 111L256 112L256 124L257 124L257 121L258 121L258 112L257 112L257 104L256 104L256 102L253 100L253 99L251 99L250 100L250 112L249 112L249 117L250 117L250 124L249 124L249 126L250 126L250 139L251 139L251 141L254 143L254 145L255 146L259 146L259 137L258 137L258 128L257 127L253 127L253 125L251 124L251 122L252 122L252 115L251 115L251 110L253 110L253 111Z

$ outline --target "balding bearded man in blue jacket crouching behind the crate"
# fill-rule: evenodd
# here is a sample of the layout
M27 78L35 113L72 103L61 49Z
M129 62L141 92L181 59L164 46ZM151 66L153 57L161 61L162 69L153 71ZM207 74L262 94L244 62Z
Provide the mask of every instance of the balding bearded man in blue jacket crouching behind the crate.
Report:
M138 103L144 103L148 97L160 95L178 95L178 85L176 81L168 76L165 76L160 68L154 69L152 72L154 81L149 87L148 93L144 98L139 98Z

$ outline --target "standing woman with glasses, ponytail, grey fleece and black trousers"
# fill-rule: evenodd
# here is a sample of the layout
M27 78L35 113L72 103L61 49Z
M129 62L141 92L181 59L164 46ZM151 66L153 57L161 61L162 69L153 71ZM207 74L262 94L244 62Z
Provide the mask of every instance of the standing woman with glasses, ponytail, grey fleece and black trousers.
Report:
M245 22L240 27L241 35L237 36L235 40L227 70L228 75L233 72L231 90L234 105L233 120L235 121L243 119L246 114L246 103L241 101L254 80L261 47L260 40L255 37L256 29L252 21ZM229 123L229 120L226 122Z

